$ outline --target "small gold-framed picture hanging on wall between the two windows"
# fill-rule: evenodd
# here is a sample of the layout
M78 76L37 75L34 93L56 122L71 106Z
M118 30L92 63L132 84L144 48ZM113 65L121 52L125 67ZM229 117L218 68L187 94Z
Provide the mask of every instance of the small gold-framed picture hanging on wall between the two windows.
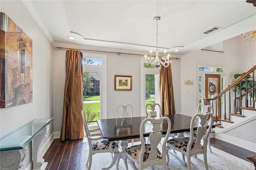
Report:
M132 90L131 75L115 75L115 90Z

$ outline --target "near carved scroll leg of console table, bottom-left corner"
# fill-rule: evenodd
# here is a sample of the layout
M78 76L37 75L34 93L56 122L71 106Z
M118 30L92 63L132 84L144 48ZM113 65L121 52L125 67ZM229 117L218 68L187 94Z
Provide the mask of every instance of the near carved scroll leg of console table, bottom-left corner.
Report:
M28 152L27 146L19 150L6 150L0 152L1 170L18 170L23 166L22 162Z

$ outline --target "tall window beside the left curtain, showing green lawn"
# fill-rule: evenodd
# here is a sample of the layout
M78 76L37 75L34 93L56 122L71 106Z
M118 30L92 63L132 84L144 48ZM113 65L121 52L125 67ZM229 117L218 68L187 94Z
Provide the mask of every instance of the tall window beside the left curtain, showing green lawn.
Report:
M106 119L106 55L83 54L83 108L87 121Z

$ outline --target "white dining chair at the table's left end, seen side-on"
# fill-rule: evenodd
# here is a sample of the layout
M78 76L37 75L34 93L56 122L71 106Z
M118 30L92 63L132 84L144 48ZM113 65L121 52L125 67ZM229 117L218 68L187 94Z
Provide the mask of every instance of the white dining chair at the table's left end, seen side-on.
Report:
M112 168L112 166L114 166L114 164L116 163L116 169L118 170L118 164L119 164L119 160L120 160L120 152L118 150L118 142L117 141L110 142L110 141L108 141L108 139L102 138L102 136L92 137L90 132L94 132L99 129L89 130L89 128L87 126L86 119L84 117L84 110L82 110L81 113L82 113L82 119L83 119L83 123L84 123L84 130L85 130L86 137L88 139L88 145L89 145L89 156L88 156L88 159L86 162L86 165L88 165L88 163L89 163L88 170L90 170L91 166L92 166L92 155L94 155L96 153L105 153L105 152L114 153L114 157L112 159L110 166L108 166L107 168L102 168L102 169L108 170L108 169Z

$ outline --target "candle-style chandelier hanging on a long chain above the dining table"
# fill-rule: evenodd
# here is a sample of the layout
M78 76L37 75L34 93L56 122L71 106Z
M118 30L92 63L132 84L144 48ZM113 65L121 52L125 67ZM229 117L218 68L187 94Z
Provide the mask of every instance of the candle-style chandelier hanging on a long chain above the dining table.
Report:
M146 54L145 54L145 61L143 61L143 63L146 63L146 64L152 64L154 68L156 69L159 69L161 67L161 65L163 65L164 67L168 67L169 66L169 63L172 62L172 60L170 60L170 54L168 54L166 56L166 50L164 50L164 57L161 57L161 59L159 59L158 57L158 53L159 53L159 49L158 49L158 21L161 19L160 16L155 16L154 17L154 20L156 21L156 49L155 49L155 52L156 52L156 57L153 57L152 56L152 50L150 50L150 56L148 57Z

